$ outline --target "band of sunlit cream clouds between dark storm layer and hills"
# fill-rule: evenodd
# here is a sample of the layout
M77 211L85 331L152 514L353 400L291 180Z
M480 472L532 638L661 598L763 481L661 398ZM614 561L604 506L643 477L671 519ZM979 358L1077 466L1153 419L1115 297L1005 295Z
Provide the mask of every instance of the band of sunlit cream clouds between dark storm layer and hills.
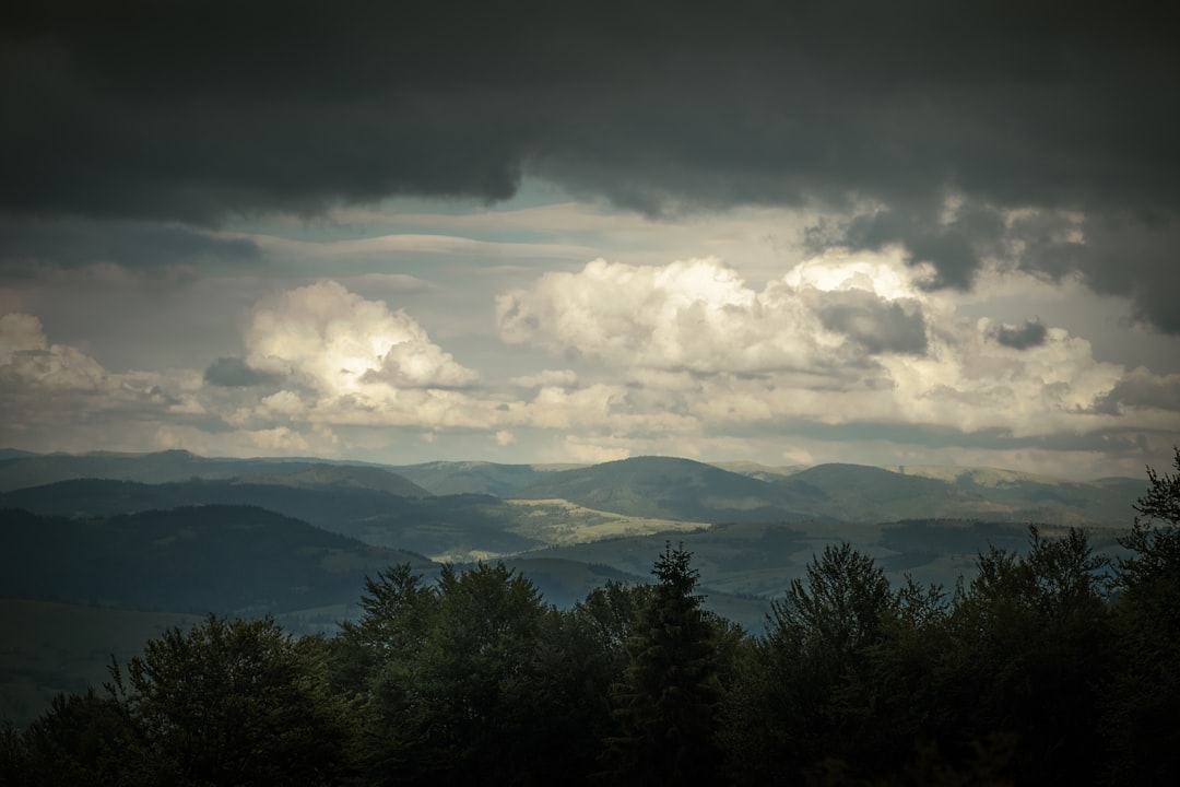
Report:
M478 237L498 221L493 212L437 216L455 237ZM289 254L308 270L329 260L372 265L269 283L251 274L225 313L225 327L238 326L237 343L218 345L196 368L112 372L14 310L6 316L0 380L6 401L25 415L6 440L407 460L470 450L507 461L663 453L906 464L961 455L1032 467L1055 457L1063 461L1058 472L1109 474L1136 472L1142 452L1166 451L1176 433L1178 375L1100 360L1084 335L1094 323L1067 309L1069 297L1088 293L1080 282L997 262L972 293L931 288L929 267L911 264L904 249L832 247L806 256L804 243L769 243L769 228L760 235L752 214L732 227L710 219L709 231L666 228L662 257L651 219L623 215L615 236L609 216L592 206L563 203L550 216L569 227L592 218L584 221L582 240L595 238L586 248L625 247L627 234L645 240L634 254L618 254L625 261L584 255L576 264L548 253L513 257L510 244L486 265L476 261L491 247L442 243L437 249L458 256L437 276L421 267L398 273L405 237L260 241L271 262ZM509 224L523 231L525 219ZM706 242L709 232L721 240ZM673 256L674 247L688 254ZM382 248L393 261L385 269ZM776 269L768 249L786 255ZM111 268L106 278L119 280L122 270ZM472 273L448 278L455 270ZM93 273L63 271L54 287L80 293L83 275ZM196 297L210 286L189 287ZM146 296L153 286L136 287ZM9 300L46 308L27 291L15 289ZM445 310L460 303L463 314ZM994 303L1010 306L992 311ZM441 337L419 315L444 324ZM68 444L51 438L63 428ZM117 440L106 437L114 433ZM1063 437L1073 447L1036 447ZM866 447L853 451L859 444ZM1103 465L1095 457L1110 445L1123 446L1123 458Z

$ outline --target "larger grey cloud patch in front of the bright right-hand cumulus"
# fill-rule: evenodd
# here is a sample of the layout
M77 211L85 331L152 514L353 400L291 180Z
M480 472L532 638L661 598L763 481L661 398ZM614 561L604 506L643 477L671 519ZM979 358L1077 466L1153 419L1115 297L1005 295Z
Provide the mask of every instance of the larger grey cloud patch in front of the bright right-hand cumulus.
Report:
M859 342L870 353L926 352L926 323L916 302L884 301L872 293L822 293L812 308L828 330Z

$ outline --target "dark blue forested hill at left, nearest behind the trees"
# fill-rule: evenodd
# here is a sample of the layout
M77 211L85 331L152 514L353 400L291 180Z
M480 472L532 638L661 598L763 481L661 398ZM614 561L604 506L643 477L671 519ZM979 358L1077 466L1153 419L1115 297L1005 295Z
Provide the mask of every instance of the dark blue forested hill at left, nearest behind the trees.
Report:
M365 577L418 555L253 506L67 519L0 510L0 597L204 614L355 603Z

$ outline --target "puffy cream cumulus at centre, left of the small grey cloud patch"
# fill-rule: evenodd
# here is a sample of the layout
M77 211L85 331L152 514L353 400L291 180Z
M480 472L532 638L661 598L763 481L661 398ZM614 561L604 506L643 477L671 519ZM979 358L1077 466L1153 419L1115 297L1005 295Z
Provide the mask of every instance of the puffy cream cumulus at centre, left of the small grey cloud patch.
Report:
M716 258L668 265L596 260L497 302L500 336L605 363L694 373L811 368L857 354L780 284L761 293Z

